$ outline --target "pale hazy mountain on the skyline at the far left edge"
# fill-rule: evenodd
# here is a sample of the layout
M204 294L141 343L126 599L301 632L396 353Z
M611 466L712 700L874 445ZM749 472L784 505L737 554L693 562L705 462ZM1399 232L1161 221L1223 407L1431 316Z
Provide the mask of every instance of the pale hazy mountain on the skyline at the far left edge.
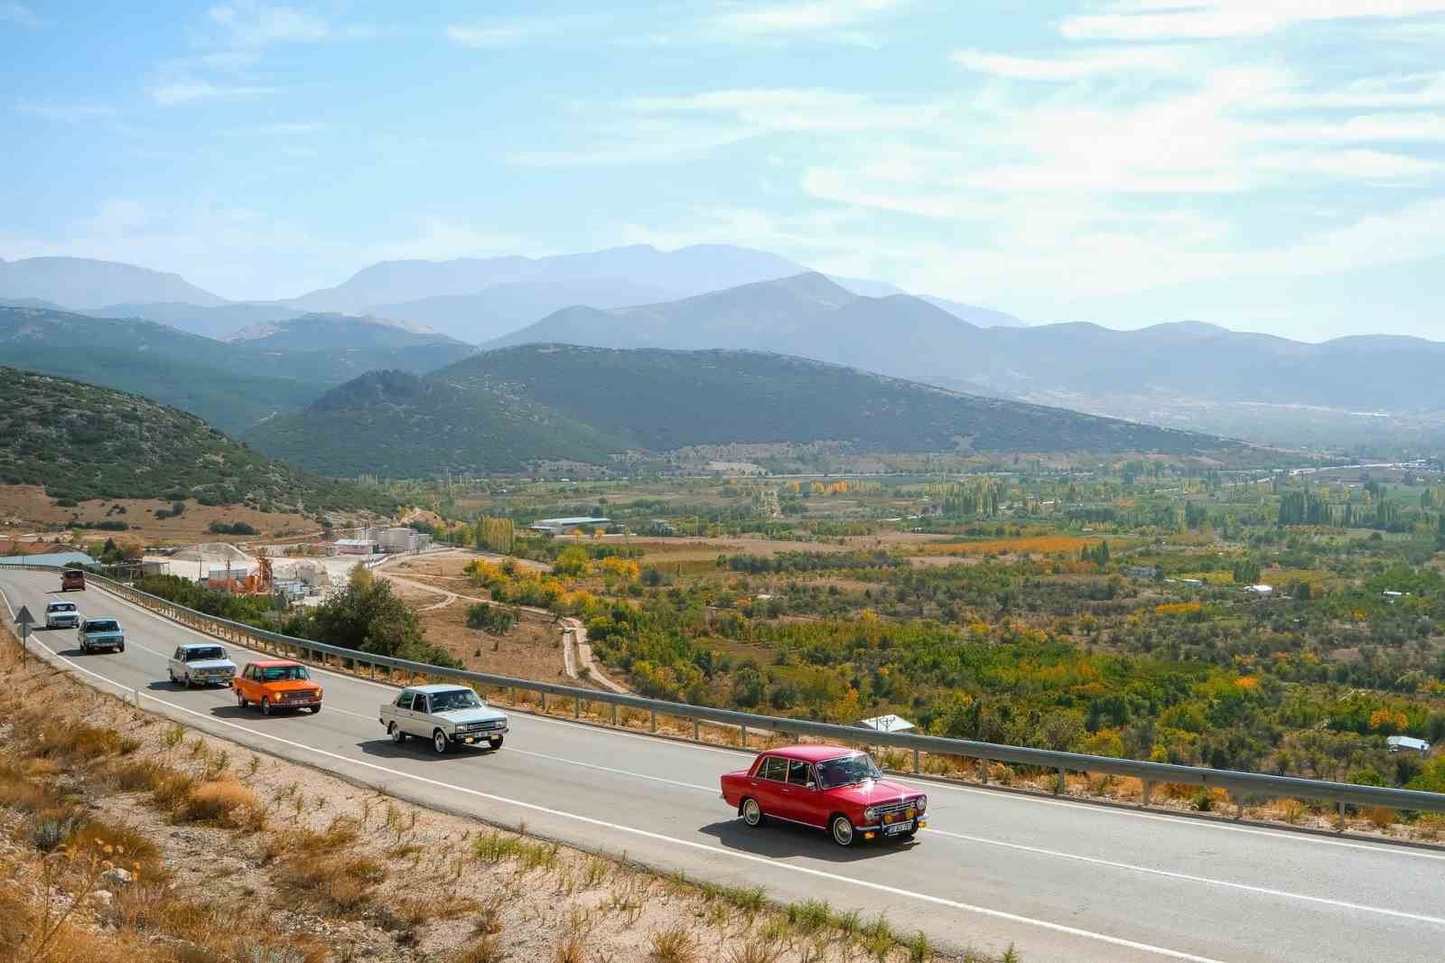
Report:
M225 304L181 275L90 257L0 259L0 298L42 298L72 309L150 301Z

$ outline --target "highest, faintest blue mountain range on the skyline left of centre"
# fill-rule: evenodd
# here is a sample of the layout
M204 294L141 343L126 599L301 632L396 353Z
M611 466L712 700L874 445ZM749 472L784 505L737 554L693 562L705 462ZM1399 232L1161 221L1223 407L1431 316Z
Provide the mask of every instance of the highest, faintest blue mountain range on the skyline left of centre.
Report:
M295 301L309 311L357 312L373 305L477 294L493 285L579 279L623 281L678 298L801 270L801 265L786 257L747 247L698 244L662 252L637 244L551 257L389 260L358 270L345 283L312 291Z

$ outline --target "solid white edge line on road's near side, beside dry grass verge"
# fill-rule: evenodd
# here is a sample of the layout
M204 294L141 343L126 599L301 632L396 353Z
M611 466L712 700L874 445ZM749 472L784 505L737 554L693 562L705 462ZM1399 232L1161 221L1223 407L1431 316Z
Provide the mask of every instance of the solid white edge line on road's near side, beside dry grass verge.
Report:
M59 652L55 652L48 645L40 643L40 648L43 648L46 652L49 652L51 655L53 655L56 659L68 664L71 668L74 668L74 669L77 669L79 672L84 672L85 675L92 675L92 677L98 678L100 681L105 682L107 685L116 685L121 691L127 691L127 688L124 685L121 685L120 682L117 682L114 680L110 680L110 678L105 678L100 672L92 672L91 669L88 669L88 668L85 668L82 665L77 665L72 659L61 655ZM1175 959L1175 960L1188 960L1189 963L1222 963L1221 960L1215 960L1212 957L1195 956L1192 953L1185 953L1182 950L1170 950L1168 947L1150 946L1147 943L1139 943L1139 941L1134 941L1134 940L1126 940L1124 937L1108 936L1105 933L1094 933L1091 930L1081 930L1078 927L1065 925L1062 923L1051 923L1048 920L1035 920L1032 917L1023 917L1023 915L1019 915L1019 914L1014 914L1014 912L1006 912L1003 910L991 910L988 907L975 907L972 904L959 902L957 899L948 899L945 896L933 896L931 894L915 892L915 891L910 891L910 889L902 889L899 886L889 886L889 885L879 883L879 882L871 882L871 881L867 881L867 879L854 879L851 876L844 876L841 873L832 873L832 872L828 872L828 870L815 869L812 866L798 866L795 863L786 863L786 862L779 862L779 860L767 859L766 856L754 856L753 853L740 853L737 850L721 849L718 846L708 846L707 843L698 843L695 840L678 839L678 837L673 837L673 836L663 836L662 833L653 833L650 830L636 829L636 827L631 827L631 826L621 826L618 823L608 823L607 820L598 820L598 818L592 818L590 816L581 816L578 813L566 813L566 811L562 811L562 810L553 810L553 808L546 807L546 805L538 805L536 803L525 803L522 800L510 800L510 798L503 797L503 795L494 795L491 792L483 792L481 789L470 789L470 788L462 787L462 785L454 785L451 782L442 782L441 779L432 779L432 778L428 778L428 776L415 775L415 774L410 774L410 772L403 772L400 769L390 769L387 766L381 766L381 765L377 765L374 762L366 762L364 759L351 759L350 756L342 756L341 753L328 752L327 749L316 749L314 746L306 746L303 743L293 742L290 739L283 739L280 736L276 736L276 735L272 735L272 733L267 733L267 732L259 732L256 729L249 729L247 726L241 726L238 723L233 723L233 722L225 720L225 719L217 719L215 716L210 716L207 713L197 711L194 709L186 709L185 706L178 706L176 703L169 703L169 701L166 701L163 698L158 698L155 696L146 694L146 698L150 698L152 701L158 701L162 706L166 706L169 709L186 713L186 714L191 714L191 716L198 716L201 719L205 719L205 720L208 720L211 723L215 723L215 724L220 724L220 726L227 726L227 727L231 727L231 729L240 729L241 732L250 733L251 736L256 736L256 737L260 737L260 739L270 739L270 740L282 743L285 746L290 746L293 749L299 749L301 752L311 752L311 753L315 753L318 756L324 756L324 758L328 758L328 759L335 759L335 761L347 763L347 765L360 766L360 768L364 768L364 769L371 769L374 772L383 772L383 774L386 774L389 776L396 776L399 779L410 779L413 782L423 782L426 785L432 785L432 787L436 787L436 788L441 788L441 789L448 789L451 792L461 792L464 795L471 795L471 797L475 797L475 798L480 798L480 800L488 800L488 801L493 801L493 803L501 803L503 805L513 805L513 807L517 807L517 808L530 810L533 813L542 813L545 816L555 816L555 817L559 817L559 818L574 820L574 821L578 821L578 823L585 823L588 826L595 826L595 827L613 830L613 831L617 831L617 833L629 833L629 834L633 834L633 836L640 836L643 839L650 839L653 842L666 843L666 844L672 844L672 846L682 846L682 847L686 847L686 849L692 849L692 850L702 852L702 853L709 853L709 855L714 855L714 856L724 856L724 857L731 857L731 859L738 859L738 860L743 860L743 862L749 862L749 863L759 863L759 865L763 865L763 866L769 866L772 869L782 869L782 870L799 873L799 875L803 875L803 876L812 876L815 879L827 879L827 881L831 881L831 882L840 882L840 883L845 883L845 885L851 885L851 886L860 886L863 889L870 889L873 892L883 892L883 894L889 894L889 895L893 895L893 896L903 896L906 899L918 899L920 902L928 902L928 904L938 905L938 907L946 907L949 910L959 910L959 911L964 911L964 912L972 912L972 914L977 914L977 915L991 917L991 918L996 918L996 920L1006 920L1009 923L1017 923L1017 924L1023 924L1023 925L1038 927L1038 928L1042 928L1042 930L1049 930L1052 933L1062 933L1065 936L1081 937L1081 938L1087 938L1087 940L1097 940L1100 943L1107 943L1110 946L1117 946L1117 947L1123 947L1123 949L1129 949L1129 950L1139 950L1142 953L1152 953L1155 956L1165 956L1165 957Z

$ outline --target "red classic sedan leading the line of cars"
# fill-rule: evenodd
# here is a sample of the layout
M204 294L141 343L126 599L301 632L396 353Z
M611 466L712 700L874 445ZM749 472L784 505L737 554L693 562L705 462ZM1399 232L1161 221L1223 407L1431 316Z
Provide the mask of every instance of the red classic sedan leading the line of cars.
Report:
M913 839L928 797L883 778L866 752L788 746L759 753L722 776L722 798L751 827L785 820L828 830L838 846L858 839Z

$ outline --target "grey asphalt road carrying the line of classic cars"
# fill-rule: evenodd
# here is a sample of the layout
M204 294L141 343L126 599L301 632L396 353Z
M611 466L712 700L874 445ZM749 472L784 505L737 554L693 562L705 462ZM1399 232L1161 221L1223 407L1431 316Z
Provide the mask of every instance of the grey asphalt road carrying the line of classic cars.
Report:
M49 573L0 567L13 610L42 616ZM764 886L884 914L949 947L1016 944L1045 960L1438 962L1445 957L1445 853L1065 800L920 782L929 827L912 844L851 850L824 833L746 829L718 798L740 752L523 714L500 752L393 746L377 709L394 688L319 672L319 716L262 717L228 690L182 691L166 656L197 636L98 588L66 596L114 616L127 648L79 655L71 630L38 632L46 658L189 726L374 785L389 794L663 870ZM6 613L7 616L10 612ZM246 651L233 649L243 664Z

